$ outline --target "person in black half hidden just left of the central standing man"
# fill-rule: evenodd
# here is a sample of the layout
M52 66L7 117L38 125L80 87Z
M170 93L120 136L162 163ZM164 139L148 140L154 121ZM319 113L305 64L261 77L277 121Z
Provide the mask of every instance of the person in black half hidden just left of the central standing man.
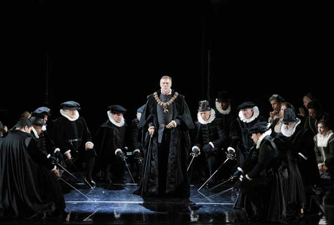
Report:
M132 142L132 171L134 172L134 180L140 181L143 172L143 147L141 144L141 134L139 133L139 121L143 115L145 105L137 109L137 115L131 122L131 142Z

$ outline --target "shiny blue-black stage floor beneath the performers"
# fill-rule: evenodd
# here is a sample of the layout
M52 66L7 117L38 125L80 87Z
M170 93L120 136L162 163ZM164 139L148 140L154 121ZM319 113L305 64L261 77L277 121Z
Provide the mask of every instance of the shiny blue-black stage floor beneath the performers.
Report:
M63 184L65 185L65 183ZM2 224L246 224L242 211L232 208L237 197L231 184L208 190L191 186L190 199L142 199L136 185L97 183L96 188L67 190L67 217L10 221ZM304 217L291 224L334 224L334 194L322 198L324 215Z

